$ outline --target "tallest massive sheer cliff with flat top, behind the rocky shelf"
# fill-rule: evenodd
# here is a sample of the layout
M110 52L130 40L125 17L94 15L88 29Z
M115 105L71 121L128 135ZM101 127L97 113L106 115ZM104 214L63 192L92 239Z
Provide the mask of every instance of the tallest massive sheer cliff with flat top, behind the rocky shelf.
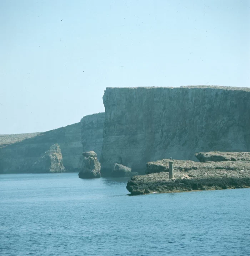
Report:
M250 150L250 88L106 88L103 102L102 173L114 163L142 171L170 156Z

